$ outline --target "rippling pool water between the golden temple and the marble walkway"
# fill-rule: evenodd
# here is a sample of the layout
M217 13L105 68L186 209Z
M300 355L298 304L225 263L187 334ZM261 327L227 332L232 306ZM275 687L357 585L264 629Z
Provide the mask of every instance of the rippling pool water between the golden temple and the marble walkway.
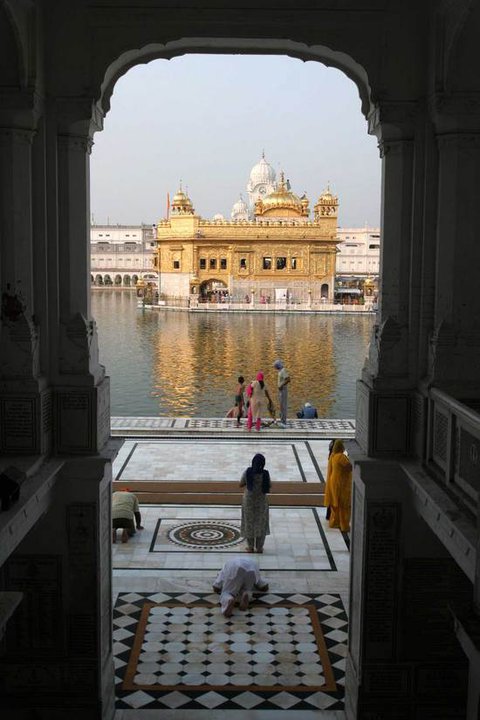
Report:
M310 401L320 417L355 417L373 315L143 310L129 290L93 291L92 312L114 416L224 417L237 376L250 381L259 370L276 400L272 363L282 358L289 416Z

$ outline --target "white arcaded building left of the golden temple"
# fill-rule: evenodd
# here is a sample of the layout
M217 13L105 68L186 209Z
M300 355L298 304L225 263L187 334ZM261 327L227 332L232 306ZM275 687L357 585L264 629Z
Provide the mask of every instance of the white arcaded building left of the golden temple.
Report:
M155 254L152 225L92 225L91 284L97 287L133 287L139 281L157 284Z

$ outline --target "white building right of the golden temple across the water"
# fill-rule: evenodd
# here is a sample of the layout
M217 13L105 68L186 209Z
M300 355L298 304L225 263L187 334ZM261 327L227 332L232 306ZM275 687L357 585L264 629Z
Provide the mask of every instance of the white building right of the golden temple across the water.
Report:
M378 294L380 229L338 228L335 298L375 297Z

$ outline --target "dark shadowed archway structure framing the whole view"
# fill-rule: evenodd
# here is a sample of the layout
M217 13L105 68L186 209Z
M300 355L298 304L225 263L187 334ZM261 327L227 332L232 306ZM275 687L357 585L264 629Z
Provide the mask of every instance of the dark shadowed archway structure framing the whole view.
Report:
M89 153L120 76L198 52L324 62L358 88L382 247L351 449L345 713L478 718L479 34L477 0L0 4L2 486L24 478L0 513L9 718L114 716L116 448L90 311Z

